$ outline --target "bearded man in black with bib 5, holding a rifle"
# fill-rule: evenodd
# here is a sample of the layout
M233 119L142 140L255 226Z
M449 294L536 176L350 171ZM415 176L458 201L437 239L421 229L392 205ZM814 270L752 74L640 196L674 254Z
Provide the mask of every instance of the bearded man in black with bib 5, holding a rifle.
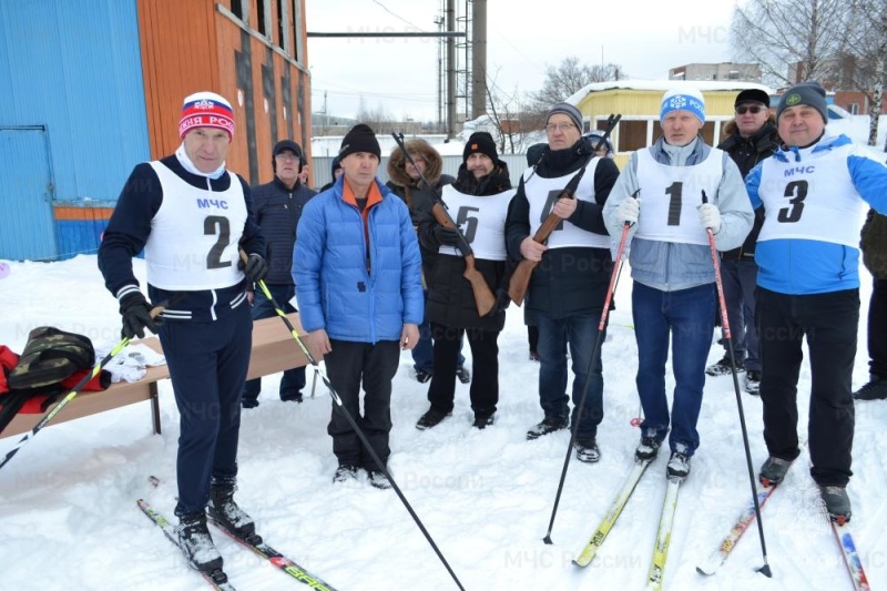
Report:
M499 160L496 142L487 132L471 134L462 153L459 176L443 187L442 200L450 216L461 222L465 237L475 253L476 268L497 294L497 306L485 316L478 314L471 284L465 278L465 257L456 248L455 228L441 226L426 210L419 216L419 242L436 253L426 275L428 304L426 322L434 337L434 376L428 387L431 408L419 418L417 429L429 429L452 412L456 377L462 335L468 338L473 360L471 410L473 426L493 424L499 403L499 333L506 323L508 272L504 221L514 191L508 165Z

